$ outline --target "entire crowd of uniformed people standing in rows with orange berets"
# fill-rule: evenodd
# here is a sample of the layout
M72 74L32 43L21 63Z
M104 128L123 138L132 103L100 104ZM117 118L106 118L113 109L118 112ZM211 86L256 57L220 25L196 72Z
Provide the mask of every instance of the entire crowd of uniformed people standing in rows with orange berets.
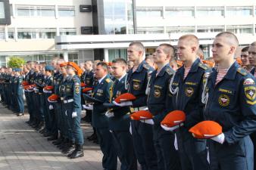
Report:
M127 60L2 66L1 102L17 116L26 102L27 124L70 159L84 156L80 121L90 123L86 140L99 144L106 170L117 159L121 170L253 170L256 42L238 51L236 36L220 32L208 60L185 35L146 57L131 42Z

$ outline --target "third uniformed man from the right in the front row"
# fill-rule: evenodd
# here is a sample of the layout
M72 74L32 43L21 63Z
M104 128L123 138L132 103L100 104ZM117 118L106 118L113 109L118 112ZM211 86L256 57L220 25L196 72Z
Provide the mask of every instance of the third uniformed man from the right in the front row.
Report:
M170 131L161 128L161 121L168 113L166 102L167 95L170 94L170 78L174 70L170 67L170 59L174 57L174 48L168 44L161 44L156 49L154 55L155 64L158 70L151 74L148 82L148 111L153 114L153 119L146 119L145 123L152 125L154 134L155 150L158 155L158 170L180 169L178 153L174 148L174 135Z

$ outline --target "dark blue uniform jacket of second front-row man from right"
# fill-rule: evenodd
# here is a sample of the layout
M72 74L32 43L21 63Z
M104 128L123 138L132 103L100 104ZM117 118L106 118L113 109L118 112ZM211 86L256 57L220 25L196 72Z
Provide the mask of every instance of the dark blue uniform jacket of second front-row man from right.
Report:
M169 111L183 110L186 113L186 122L184 127L189 129L193 125L201 122L203 116L201 114L201 93L203 90L203 76L209 67L201 63L200 59L196 59L189 70L186 79L184 78L184 65L176 70L173 79L172 88L178 88L176 94L170 94Z

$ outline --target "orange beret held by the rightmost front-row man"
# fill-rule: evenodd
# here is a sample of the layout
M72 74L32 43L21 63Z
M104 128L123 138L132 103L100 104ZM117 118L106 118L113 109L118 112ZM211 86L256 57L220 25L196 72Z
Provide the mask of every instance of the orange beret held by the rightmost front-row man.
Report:
M189 129L189 132L191 132L195 138L208 139L221 134L222 127L217 122L207 120L194 125Z

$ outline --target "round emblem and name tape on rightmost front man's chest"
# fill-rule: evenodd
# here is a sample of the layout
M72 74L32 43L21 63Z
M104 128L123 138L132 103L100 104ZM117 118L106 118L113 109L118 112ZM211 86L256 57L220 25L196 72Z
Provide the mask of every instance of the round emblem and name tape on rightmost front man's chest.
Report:
M217 102L220 107L229 108L234 104L236 91L229 88L219 88L217 91Z

